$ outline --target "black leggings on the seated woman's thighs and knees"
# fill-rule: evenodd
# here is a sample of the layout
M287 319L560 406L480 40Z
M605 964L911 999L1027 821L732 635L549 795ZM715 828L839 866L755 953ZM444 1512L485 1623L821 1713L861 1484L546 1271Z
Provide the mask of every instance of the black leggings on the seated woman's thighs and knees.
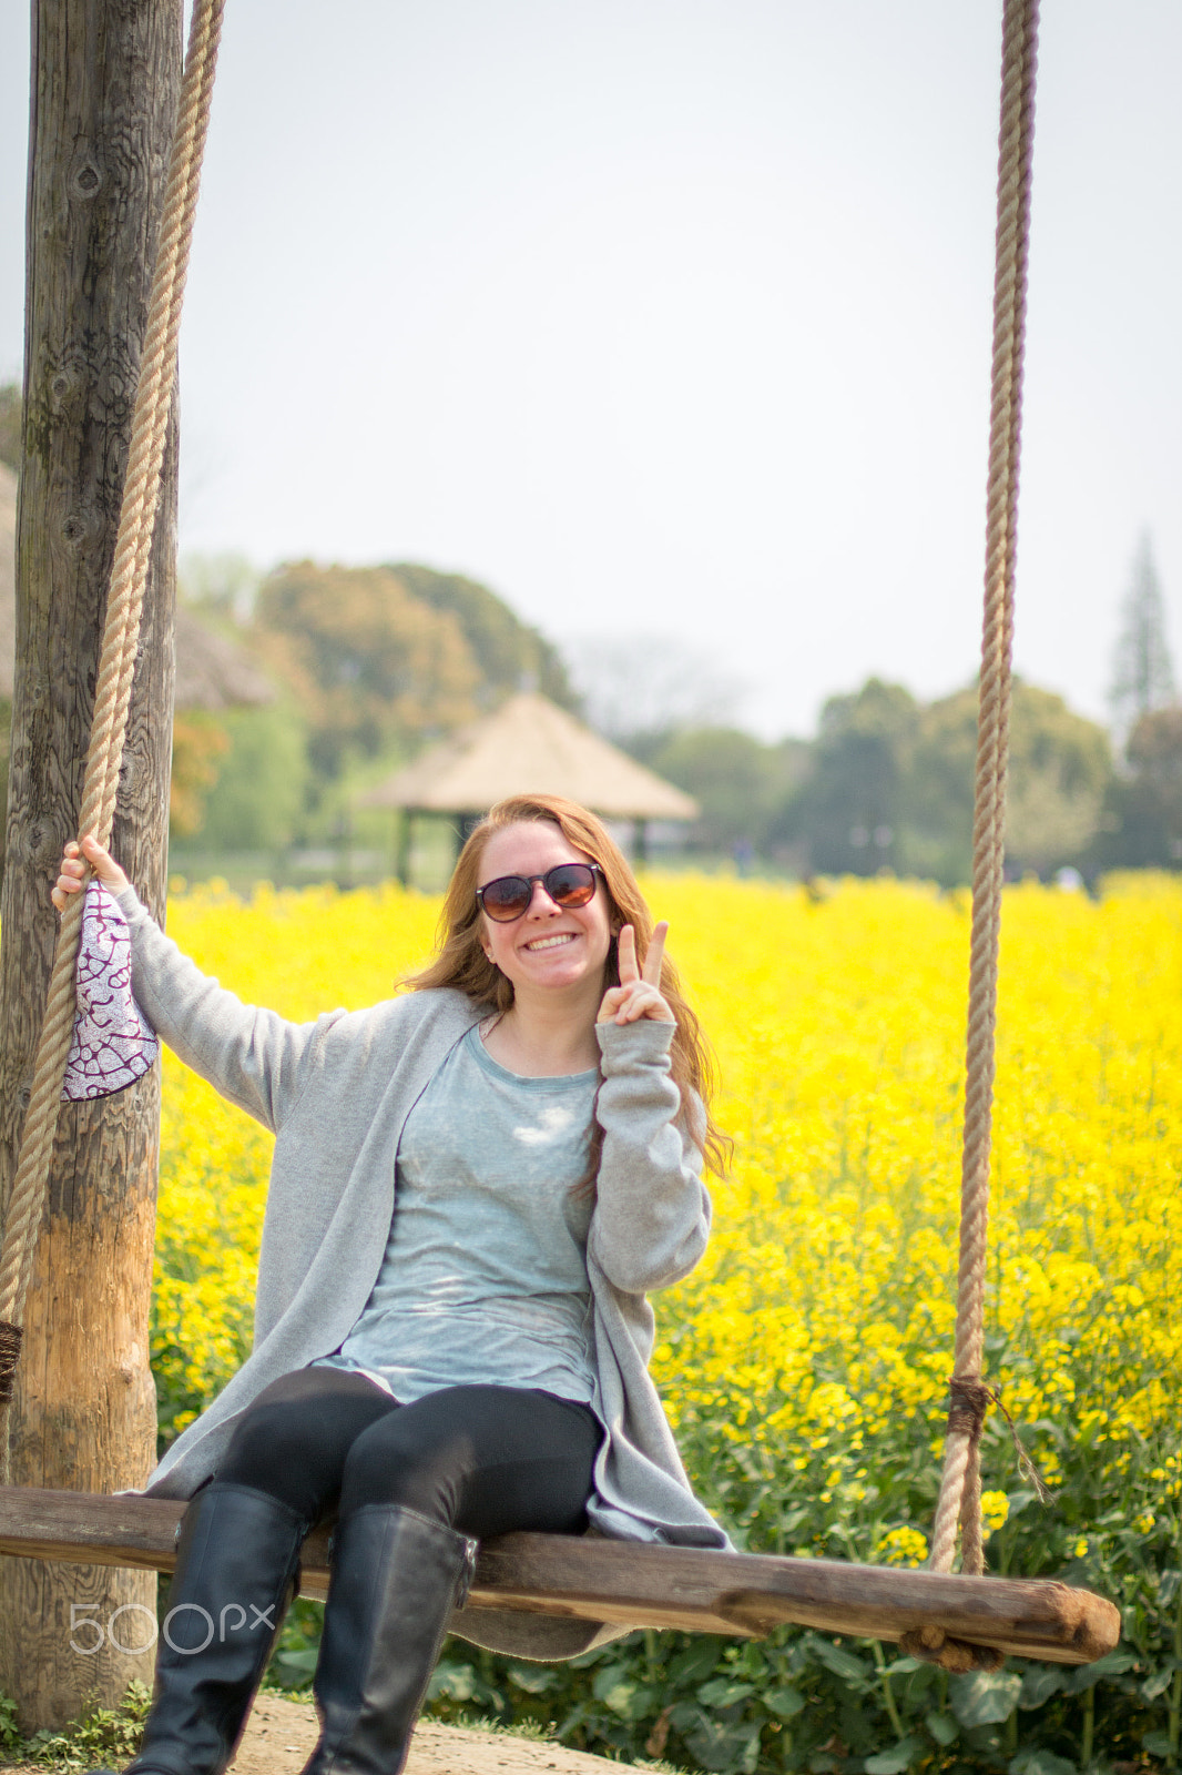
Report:
M259 1393L217 1477L309 1521L401 1503L477 1541L579 1534L600 1438L589 1406L554 1393L447 1386L399 1406L364 1374L300 1369Z

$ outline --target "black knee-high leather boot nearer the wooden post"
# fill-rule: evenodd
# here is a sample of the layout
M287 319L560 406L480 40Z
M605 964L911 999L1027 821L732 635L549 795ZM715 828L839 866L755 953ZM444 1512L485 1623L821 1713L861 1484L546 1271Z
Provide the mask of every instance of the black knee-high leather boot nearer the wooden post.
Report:
M144 1743L126 1775L222 1775L282 1624L307 1526L250 1486L215 1480L197 1493L181 1525Z

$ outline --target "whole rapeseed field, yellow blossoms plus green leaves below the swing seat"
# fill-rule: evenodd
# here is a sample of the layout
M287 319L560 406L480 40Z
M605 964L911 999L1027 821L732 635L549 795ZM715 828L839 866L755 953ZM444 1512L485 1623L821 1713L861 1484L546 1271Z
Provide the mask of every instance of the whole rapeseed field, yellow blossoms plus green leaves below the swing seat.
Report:
M655 1370L687 1466L740 1546L914 1566L951 1367L967 896L841 882L816 898L685 875L646 891L671 919L735 1138L708 1257L657 1303ZM241 998L303 1019L389 994L431 951L437 912L396 888L259 889L241 905L211 886L177 893L169 921ZM987 1369L1051 1502L994 1413L987 1551L997 1571L1113 1596L1118 1653L1079 1672L950 1681L790 1629L642 1635L561 1672L453 1649L433 1706L726 1775L1076 1775L1097 1755L1175 1768L1180 1056L1182 882L1116 879L1100 900L1006 893ZM153 1347L165 1440L247 1354L268 1148L165 1060ZM289 1679L311 1665L302 1633L316 1624L288 1629Z

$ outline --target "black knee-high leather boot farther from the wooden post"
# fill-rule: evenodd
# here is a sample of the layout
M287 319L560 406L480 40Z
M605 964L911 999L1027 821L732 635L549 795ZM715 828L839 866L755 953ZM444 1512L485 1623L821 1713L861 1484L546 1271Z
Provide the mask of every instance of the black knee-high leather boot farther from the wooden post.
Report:
M476 1541L399 1503L367 1503L334 1535L312 1690L321 1740L303 1775L398 1775Z

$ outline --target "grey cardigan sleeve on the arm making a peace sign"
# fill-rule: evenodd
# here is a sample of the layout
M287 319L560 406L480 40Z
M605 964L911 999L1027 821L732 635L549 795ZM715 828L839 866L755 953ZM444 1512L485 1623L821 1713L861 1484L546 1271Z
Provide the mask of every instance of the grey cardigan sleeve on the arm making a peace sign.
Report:
M596 1024L603 1152L587 1250L625 1294L666 1289L706 1250L710 1196L682 1093L669 1072L673 1024Z

